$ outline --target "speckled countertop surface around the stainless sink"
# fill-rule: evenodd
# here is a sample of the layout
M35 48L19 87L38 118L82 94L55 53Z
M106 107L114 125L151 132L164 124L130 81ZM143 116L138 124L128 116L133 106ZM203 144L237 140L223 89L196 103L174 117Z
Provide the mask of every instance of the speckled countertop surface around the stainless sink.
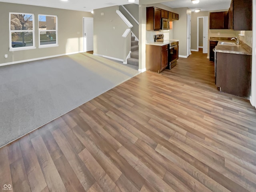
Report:
M230 38L221 38L215 39L210 38L210 41L218 41L218 44L215 48L216 52L220 53L231 53L231 54L242 54L242 55L252 55L252 51L247 49L247 45L241 42L240 45L222 45L220 42L232 42L236 43L235 40L230 40Z

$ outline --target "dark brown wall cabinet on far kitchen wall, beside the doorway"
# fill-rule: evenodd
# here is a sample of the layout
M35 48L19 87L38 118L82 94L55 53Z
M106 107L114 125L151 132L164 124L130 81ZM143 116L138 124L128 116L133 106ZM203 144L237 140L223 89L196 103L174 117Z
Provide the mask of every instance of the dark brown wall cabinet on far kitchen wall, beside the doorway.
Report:
M210 12L210 29L229 29L228 11Z

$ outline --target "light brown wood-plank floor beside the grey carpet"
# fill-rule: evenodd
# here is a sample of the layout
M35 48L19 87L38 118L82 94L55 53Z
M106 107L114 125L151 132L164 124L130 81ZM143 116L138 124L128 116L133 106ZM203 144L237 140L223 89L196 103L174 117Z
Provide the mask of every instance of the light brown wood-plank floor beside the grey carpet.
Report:
M14 192L256 192L256 110L218 92L213 62L192 52L172 70L139 74L0 148L4 185Z

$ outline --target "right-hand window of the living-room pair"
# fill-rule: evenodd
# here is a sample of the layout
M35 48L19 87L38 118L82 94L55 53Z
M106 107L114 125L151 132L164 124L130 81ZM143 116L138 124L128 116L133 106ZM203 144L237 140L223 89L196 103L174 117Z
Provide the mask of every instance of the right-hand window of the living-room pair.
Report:
M39 48L58 46L57 16L38 15Z

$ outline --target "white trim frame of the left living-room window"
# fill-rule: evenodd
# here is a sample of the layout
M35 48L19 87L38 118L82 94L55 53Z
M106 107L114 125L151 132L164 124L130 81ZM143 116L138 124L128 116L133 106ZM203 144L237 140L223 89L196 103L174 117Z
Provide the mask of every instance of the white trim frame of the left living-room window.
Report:
M25 14L25 15L32 15L32 24L33 24L33 30L11 30L11 14ZM33 39L33 46L28 47L19 47L19 48L12 48L12 32L31 32L33 33L32 39ZM20 51L20 50L29 50L29 49L35 49L35 16L33 13L15 13L10 12L9 13L9 51Z

